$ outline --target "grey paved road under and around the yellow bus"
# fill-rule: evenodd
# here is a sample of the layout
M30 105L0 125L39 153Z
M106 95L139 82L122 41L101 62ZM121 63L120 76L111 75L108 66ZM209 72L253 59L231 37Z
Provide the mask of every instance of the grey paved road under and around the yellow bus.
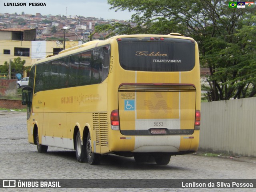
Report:
M98 166L76 161L71 150L49 147L39 154L27 141L26 113L0 112L0 179L256 179L256 158L172 156L170 164L137 164L133 158L104 156ZM49 191L49 189L40 189ZM53 191L74 191L54 189ZM99 191L99 189L79 189ZM256 191L254 189L104 189L100 191ZM6 189L28 191L28 189ZM33 191L30 189L30 191ZM51 190L52 191L52 190Z

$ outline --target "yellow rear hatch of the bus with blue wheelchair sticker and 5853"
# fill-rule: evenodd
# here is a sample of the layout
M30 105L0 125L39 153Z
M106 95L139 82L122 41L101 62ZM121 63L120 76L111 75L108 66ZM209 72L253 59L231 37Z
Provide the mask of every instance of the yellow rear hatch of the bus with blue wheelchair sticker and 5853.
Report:
M121 85L123 135L190 135L194 132L196 89L187 85Z

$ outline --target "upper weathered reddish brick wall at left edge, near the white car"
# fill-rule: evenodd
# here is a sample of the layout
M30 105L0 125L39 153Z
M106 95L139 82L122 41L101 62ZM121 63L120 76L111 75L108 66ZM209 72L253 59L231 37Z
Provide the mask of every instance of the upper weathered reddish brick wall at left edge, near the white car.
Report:
M16 79L0 79L0 96L13 96L17 94Z

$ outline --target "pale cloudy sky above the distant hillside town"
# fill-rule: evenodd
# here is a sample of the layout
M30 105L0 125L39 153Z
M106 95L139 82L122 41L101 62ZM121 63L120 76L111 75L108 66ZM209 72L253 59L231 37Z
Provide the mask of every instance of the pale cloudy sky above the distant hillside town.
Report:
M29 6L30 2L46 6ZM26 3L26 6L7 6L7 3ZM109 10L107 0L0 0L0 13L84 16L104 19L129 20L132 12Z

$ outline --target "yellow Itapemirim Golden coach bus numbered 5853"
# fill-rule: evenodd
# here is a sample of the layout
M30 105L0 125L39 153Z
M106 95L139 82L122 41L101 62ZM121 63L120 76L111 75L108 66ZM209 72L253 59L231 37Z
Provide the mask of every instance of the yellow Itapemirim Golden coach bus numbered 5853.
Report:
M79 162L134 156L166 165L198 149L198 44L180 34L122 35L39 60L23 88L28 141Z

